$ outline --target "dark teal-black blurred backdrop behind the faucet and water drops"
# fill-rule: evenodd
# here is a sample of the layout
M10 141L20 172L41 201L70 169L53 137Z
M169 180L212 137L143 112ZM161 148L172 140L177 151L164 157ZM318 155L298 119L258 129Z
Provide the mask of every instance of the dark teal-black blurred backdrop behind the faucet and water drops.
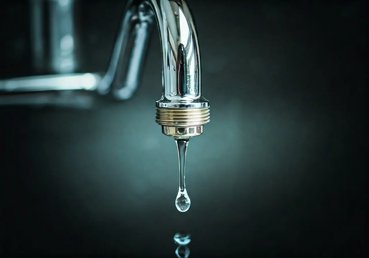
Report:
M3 257L175 257L181 230L190 257L367 252L368 4L190 3L211 121L189 142L189 211L155 123L155 30L128 101L0 107ZM106 69L124 6L79 3L81 71ZM1 9L2 78L31 74L27 15Z

